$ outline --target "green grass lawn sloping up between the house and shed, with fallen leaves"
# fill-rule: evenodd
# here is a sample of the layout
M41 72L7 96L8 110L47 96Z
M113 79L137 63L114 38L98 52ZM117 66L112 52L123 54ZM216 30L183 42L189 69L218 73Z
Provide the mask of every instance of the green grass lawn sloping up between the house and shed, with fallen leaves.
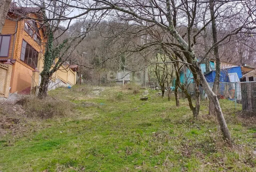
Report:
M72 88L73 89L73 88ZM0 140L0 171L256 171L256 127L241 106L221 100L235 147L225 146L215 117L201 103L198 119L187 101L104 88L99 96L59 88L50 96L77 103L67 117L40 121L40 129L12 144ZM82 102L86 102L81 103ZM255 119L253 119L255 121Z

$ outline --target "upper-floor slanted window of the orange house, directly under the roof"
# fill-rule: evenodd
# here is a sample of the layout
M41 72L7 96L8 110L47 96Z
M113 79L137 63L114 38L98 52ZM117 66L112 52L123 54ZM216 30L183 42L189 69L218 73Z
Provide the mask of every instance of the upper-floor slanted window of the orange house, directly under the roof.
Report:
M38 43L41 42L41 37L39 34L39 28L37 27L37 24L33 20L29 20L25 22L24 30L27 32L31 38L33 38Z

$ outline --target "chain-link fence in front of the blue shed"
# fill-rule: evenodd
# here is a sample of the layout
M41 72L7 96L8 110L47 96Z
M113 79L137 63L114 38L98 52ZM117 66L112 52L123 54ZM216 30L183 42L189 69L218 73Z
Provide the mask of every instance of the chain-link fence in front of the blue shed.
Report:
M212 88L213 83L208 83ZM189 94L195 93L195 84L190 83L187 85ZM204 89L199 86L201 100L207 99L207 94ZM220 82L218 87L217 96L219 99L227 99L242 104L242 110L254 112L256 111L256 81L251 82Z

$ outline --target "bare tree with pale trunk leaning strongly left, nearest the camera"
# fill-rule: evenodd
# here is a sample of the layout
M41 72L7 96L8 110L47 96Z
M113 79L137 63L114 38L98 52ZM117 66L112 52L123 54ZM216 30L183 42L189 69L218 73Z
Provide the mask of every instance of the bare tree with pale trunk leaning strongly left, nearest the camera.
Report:
M150 1L150 2L136 1L136 2L132 3L132 5L128 1L122 1L121 4L125 4L125 5L119 5L119 3L115 1L101 1L100 3L102 4L102 6L107 6L111 9L120 11L120 12L117 12L116 15L122 18L129 17L129 20L134 19L134 21L139 20L142 23L146 22L148 24L158 25L162 29L166 30L171 36L173 36L174 39L177 40L178 44L173 44L172 42L168 42L168 43L171 44L174 49L178 49L179 51L182 51L186 59L186 62L190 64L190 67L194 68L194 71L198 76L198 78L194 77L194 80L196 83L199 83L199 80L200 80L202 87L205 89L209 99L213 102L215 106L215 113L217 115L223 136L225 137L227 143L229 145L232 145L231 136L228 131L228 127L225 122L225 119L223 117L217 95L209 87L204 77L204 73L200 68L200 63L198 62L196 53L193 49L194 45L196 44L197 36L206 27L206 25L208 25L212 21L211 19L208 19L208 22L206 23L206 25L202 26L200 30L194 30L194 26L198 24L197 15L200 14L198 13L198 10L200 10L200 7L202 4L204 4L204 2L201 2L201 1L191 1L191 2L185 1L180 3L177 2L176 6L173 6L170 1L166 1L165 3L156 2L156 1ZM222 3L222 5L223 4L230 5L230 7L233 7L233 8L237 8L238 6L241 6L241 5L243 6L247 5L243 3L248 3L248 2L230 2L229 3L225 1ZM255 2L250 1L249 3L255 3ZM222 5L220 7L224 7ZM246 13L247 11L246 8L247 7L240 9L240 14L242 13L244 15L242 19L243 21L241 22L242 25L233 29L229 34L226 34L226 36L224 36L221 40L213 44L212 48L214 48L216 45L218 45L222 41L226 40L226 38L232 35L236 35L243 29L251 30L256 28L254 26L251 26L252 22L254 22L254 19L252 20L250 19L250 16L253 15L252 13L255 11L255 8L253 7L250 8L249 14ZM173 14L172 14L174 9L178 9L182 11L181 14L182 13L184 14L184 15L182 14L183 17L178 18L179 20L176 20L175 22L173 21ZM123 13L125 13L125 15L122 15ZM177 30L177 26L174 27L174 23L178 23L177 21L180 22L180 24L186 23L187 25L186 26L187 30L184 36L180 35L179 30Z

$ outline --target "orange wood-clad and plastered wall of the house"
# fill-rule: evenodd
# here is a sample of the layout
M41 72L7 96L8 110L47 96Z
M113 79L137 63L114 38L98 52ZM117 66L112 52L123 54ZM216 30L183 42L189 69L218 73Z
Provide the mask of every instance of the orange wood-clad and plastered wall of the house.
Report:
M31 15L32 17L36 17L35 15ZM5 21L5 25L3 27L2 34L14 34L16 28L16 22L7 20ZM16 40L14 40L15 36L12 36L11 44L10 44L10 53L9 57L12 56L12 47L14 45L13 51L13 59L15 59L15 64L13 65L12 78L10 82L10 93L20 92L31 86L31 76L34 68L27 65L25 62L20 60L20 53L22 48L22 41L25 40L29 45L31 45L36 51L39 52L38 55L38 64L42 64L42 56L40 52L44 52L44 44L39 45L27 32L24 30L25 20L19 21L17 23L17 32L16 32ZM44 37L42 36L42 31L40 30L42 42L44 42ZM15 41L15 42L14 42ZM13 44L14 42L14 44ZM41 62L41 63L40 63ZM38 66L38 70L42 71L42 65Z

